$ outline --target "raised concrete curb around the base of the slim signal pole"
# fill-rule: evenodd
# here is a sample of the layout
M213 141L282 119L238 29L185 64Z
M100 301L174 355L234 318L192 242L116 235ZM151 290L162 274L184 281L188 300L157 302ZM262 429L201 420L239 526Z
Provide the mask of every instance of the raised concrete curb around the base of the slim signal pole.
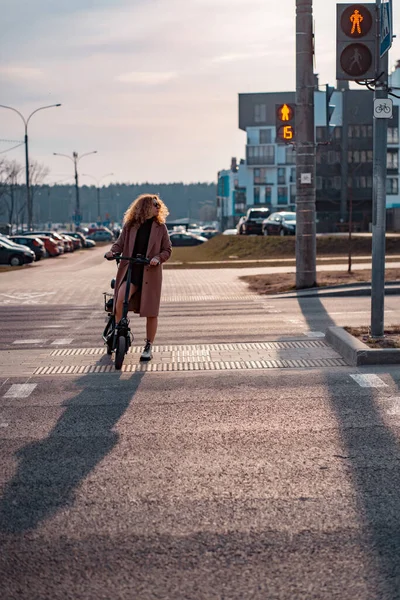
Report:
M370 348L343 327L328 327L325 339L350 366L400 364L400 349Z

